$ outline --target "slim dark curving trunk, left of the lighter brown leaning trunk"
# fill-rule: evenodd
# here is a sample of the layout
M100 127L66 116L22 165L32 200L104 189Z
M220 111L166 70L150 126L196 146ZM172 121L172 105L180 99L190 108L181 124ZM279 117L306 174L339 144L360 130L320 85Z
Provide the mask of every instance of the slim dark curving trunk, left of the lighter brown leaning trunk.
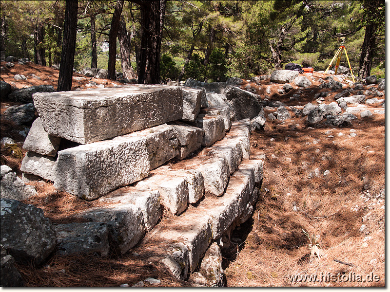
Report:
M111 28L109 34L109 51L108 51L108 73L107 78L116 80L115 65L117 63L117 36L119 30L120 15L122 14L124 0L117 0L114 15L111 19Z

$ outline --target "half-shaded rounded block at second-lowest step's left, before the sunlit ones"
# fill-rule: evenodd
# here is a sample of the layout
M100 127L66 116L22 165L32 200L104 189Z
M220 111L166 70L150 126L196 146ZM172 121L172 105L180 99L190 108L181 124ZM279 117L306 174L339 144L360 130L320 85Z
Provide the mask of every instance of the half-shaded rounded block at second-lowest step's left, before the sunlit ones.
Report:
M145 234L142 213L137 206L130 203L95 207L77 216L105 223L112 248L122 255L134 247Z

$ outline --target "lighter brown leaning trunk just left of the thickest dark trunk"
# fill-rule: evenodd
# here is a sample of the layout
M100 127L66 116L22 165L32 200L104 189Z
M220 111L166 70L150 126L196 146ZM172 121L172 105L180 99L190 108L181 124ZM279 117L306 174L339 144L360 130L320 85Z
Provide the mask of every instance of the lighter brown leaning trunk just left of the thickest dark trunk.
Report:
M127 33L125 18L120 18L118 39L120 45L120 65L122 67L123 76L127 79L135 79L133 67L130 62L131 39Z

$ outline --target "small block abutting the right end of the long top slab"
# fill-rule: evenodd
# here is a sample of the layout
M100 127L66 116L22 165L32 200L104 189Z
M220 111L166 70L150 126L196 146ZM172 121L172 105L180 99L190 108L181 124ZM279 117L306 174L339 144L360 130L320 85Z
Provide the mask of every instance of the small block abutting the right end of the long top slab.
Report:
M200 112L200 103L202 96L206 95L206 91L187 87L180 88L183 91L183 116L181 119L194 122Z

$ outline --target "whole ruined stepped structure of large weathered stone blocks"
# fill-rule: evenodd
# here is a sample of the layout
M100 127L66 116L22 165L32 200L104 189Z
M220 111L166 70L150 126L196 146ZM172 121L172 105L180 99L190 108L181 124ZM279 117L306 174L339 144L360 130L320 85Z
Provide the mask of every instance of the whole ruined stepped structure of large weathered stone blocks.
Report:
M54 138L83 144L56 150L56 156L26 145L21 170L93 202L76 218L100 223L109 238L100 246L104 236L91 242L94 249L69 247L61 242L73 235L61 226L62 254L106 255L108 244L122 255L142 254L186 280L213 242L230 244L234 227L251 217L263 163L250 159L250 120L231 121L228 107L200 109L204 90L133 85L33 98L41 118L35 128L43 128L36 144ZM35 128L29 135L36 135ZM172 215L160 220L164 209Z

